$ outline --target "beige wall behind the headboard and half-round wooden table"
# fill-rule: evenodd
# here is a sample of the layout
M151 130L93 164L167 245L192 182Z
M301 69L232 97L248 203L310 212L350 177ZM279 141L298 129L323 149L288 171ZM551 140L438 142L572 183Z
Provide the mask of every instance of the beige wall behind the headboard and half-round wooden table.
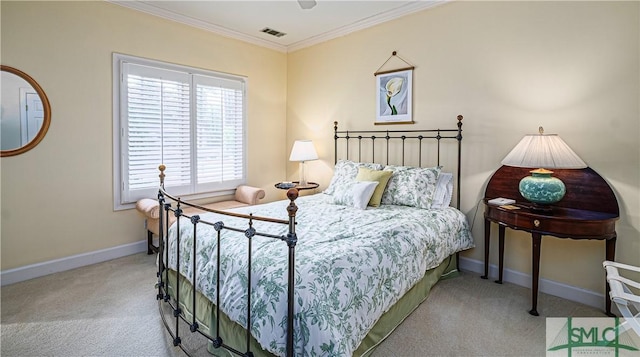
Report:
M638 2L460 1L296 51L287 67L287 141L314 140L321 161L308 164L307 177L326 187L333 121L374 127L373 73L398 51L416 67L416 124L402 128L455 128L456 115L465 116L462 210L477 245L466 257L483 260L475 210L486 182L542 125L611 184L621 211L617 259L640 265L639 16ZM287 169L297 175L295 165ZM506 267L529 274L531 239L507 234ZM603 292L603 259L603 242L545 237L541 277Z

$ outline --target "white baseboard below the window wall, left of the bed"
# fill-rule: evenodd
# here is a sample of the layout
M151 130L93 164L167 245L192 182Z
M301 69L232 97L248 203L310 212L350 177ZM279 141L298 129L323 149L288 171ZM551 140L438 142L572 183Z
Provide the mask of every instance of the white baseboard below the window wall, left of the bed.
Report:
M66 258L9 269L0 272L0 286L18 283L146 251L147 241L141 240L139 242L124 244L113 248L96 250L94 252L72 255Z

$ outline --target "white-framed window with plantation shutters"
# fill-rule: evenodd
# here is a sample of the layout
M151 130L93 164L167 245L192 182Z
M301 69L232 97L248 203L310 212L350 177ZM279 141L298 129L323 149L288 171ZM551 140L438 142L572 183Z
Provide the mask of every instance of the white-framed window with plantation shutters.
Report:
M246 78L114 55L114 206L228 194L246 179Z

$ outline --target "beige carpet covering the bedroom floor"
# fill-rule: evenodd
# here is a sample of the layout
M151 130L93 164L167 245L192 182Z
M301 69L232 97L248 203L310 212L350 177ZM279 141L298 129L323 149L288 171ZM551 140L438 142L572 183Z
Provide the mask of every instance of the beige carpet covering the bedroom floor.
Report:
M136 254L4 286L0 355L184 356L164 330L155 282L154 256ZM534 317L530 301L529 289L462 273L439 282L373 356L543 356L545 317L605 316L540 294Z

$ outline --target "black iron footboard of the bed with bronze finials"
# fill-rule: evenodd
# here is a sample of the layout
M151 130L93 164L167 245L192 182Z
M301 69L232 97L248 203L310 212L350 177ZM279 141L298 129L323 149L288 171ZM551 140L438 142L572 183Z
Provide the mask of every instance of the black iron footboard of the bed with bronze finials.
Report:
M287 335L286 335L286 355L287 356L293 356L294 355L294 345L293 345L293 333L294 333L294 328L293 328L293 323L294 323L294 311L293 311L293 306L294 306L294 278L295 278L295 248L296 248L296 243L297 243L297 235L296 235L296 230L295 230L295 225L296 225L296 212L298 210L298 207L295 204L295 200L298 197L298 191L296 189L290 189L287 192L287 198L290 200L289 205L287 206L287 213L288 213L288 219L287 220L281 220L281 219L274 219L274 218L269 218L269 217L259 217L259 216L254 216L252 214L249 215L245 215L245 214L240 214L240 213L234 213L234 212L226 212L226 211L218 211L218 210L212 210L212 209L208 209L202 206L199 206L197 204L194 203L190 203L184 200L181 200L179 197L174 197L170 194L168 194L165 189L164 189L164 170L165 170L165 166L164 165L160 165L159 167L160 169L160 189L158 191L158 202L160 204L160 235L159 235L159 250L158 250L158 272L157 272L157 278L158 278L158 282L156 284L157 289L158 289L158 293L157 293L157 299L158 299L158 303L159 303L159 309L160 309L160 316L162 317L164 326L166 328L166 330L169 332L169 334L171 335L171 338L173 340L173 345L174 346L178 346L180 347L187 355L190 355L189 351L186 349L185 346L182 345L182 338L181 336L181 332L180 332L180 323L181 321L186 323L189 326L189 331L190 333L198 333L199 335L203 336L204 338L208 339L211 342L211 345L214 348L222 348L225 349L235 355L238 356L247 356L247 357L251 357L253 356L253 352L251 351L251 346L250 346L250 342L251 342L251 265L252 265L252 249L251 249L251 245L252 245L252 240L255 237L264 237L264 238L269 238L269 239L277 239L277 240L281 240L283 242L285 242L287 244L288 247L288 276L287 276L287 281L288 281L288 286L287 286ZM176 206L175 208L172 207L172 203L170 203L170 201L173 201ZM223 220L218 221L218 222L208 222L205 220L202 220L200 215L198 214L193 214L191 216L187 215L184 213L183 210L183 206L187 206L187 207L193 207L197 210L201 210L203 212L212 212L212 213L217 213L223 216L227 216L227 217L236 217L236 218L241 218L243 219L243 221L246 221L246 226L245 227L232 227L229 226L227 224L225 224L225 222ZM175 245L175 251L174 252L169 252L169 249L167 249L165 240L167 237L165 237L165 234L167 234L167 232L169 231L169 215L173 214L176 217L176 231L178 232L178 234L176 234L176 245ZM180 280L182 279L186 279L185 277L183 277L180 272L179 272L179 267L180 267L180 225L184 224L183 220L186 219L187 222L186 224L191 224L193 226L193 247L192 247L192 252L191 254L193 254L193 258L192 258L192 263L193 263L193 269L192 269L192 284L191 284L191 296L192 296L192 301L191 301L191 306L192 306L192 311L190 311L191 314L191 319L189 319L186 315L185 312L181 309L180 307ZM271 223L275 223L275 224L283 224L283 225L288 225L288 232L285 235L273 235L273 234L267 234L267 233L261 233L258 232L254 227L253 224L255 221L265 221L265 222L271 222ZM196 309L197 309L197 304L196 304L196 282L197 282L197 269L196 269L196 258L197 258L197 227L198 225L209 225L212 226L213 229L216 231L216 238L217 238L217 261L216 261L216 301L214 301L214 305L215 305L215 326L209 326L209 331L208 333L205 331L202 331L201 327L199 326L198 322L196 321ZM164 228L164 229L163 229ZM245 330L246 330L246 348L245 351L240 351L239 348L240 347L233 347L233 346L229 346L227 344L225 344L225 341L222 339L221 337L221 331L220 331L220 237L221 237L221 233L223 231L234 231L237 233L242 233L244 234L244 237L246 238L246 242L247 242L247 250L248 250L248 254L247 254L247 326L244 326ZM169 254L175 254L176 257L176 284L174 287L175 290L175 294L174 297L172 298L170 293L169 293L169 269L167 267L167 264L169 262ZM171 328L170 326L170 320L171 318L167 319L167 317L165 316L165 313L162 311L162 304L165 303L168 305L169 309L173 312L173 328ZM213 325L214 323L212 323ZM212 333L214 332L214 333Z

